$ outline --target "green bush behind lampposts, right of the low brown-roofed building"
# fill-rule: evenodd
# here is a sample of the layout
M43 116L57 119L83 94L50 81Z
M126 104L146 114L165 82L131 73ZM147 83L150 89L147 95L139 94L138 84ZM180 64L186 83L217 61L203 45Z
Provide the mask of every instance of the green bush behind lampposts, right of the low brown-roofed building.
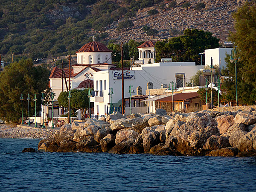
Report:
M206 92L205 92L205 88L201 88L198 90L198 95L199 98L202 102L204 102L204 104L206 104ZM211 97L212 97L212 101L211 101ZM219 95L220 97L220 102L222 100L221 95ZM207 90L207 103L211 103L213 102L214 106L218 106L218 91L215 89L212 89L212 96L211 96L211 89L209 88Z

